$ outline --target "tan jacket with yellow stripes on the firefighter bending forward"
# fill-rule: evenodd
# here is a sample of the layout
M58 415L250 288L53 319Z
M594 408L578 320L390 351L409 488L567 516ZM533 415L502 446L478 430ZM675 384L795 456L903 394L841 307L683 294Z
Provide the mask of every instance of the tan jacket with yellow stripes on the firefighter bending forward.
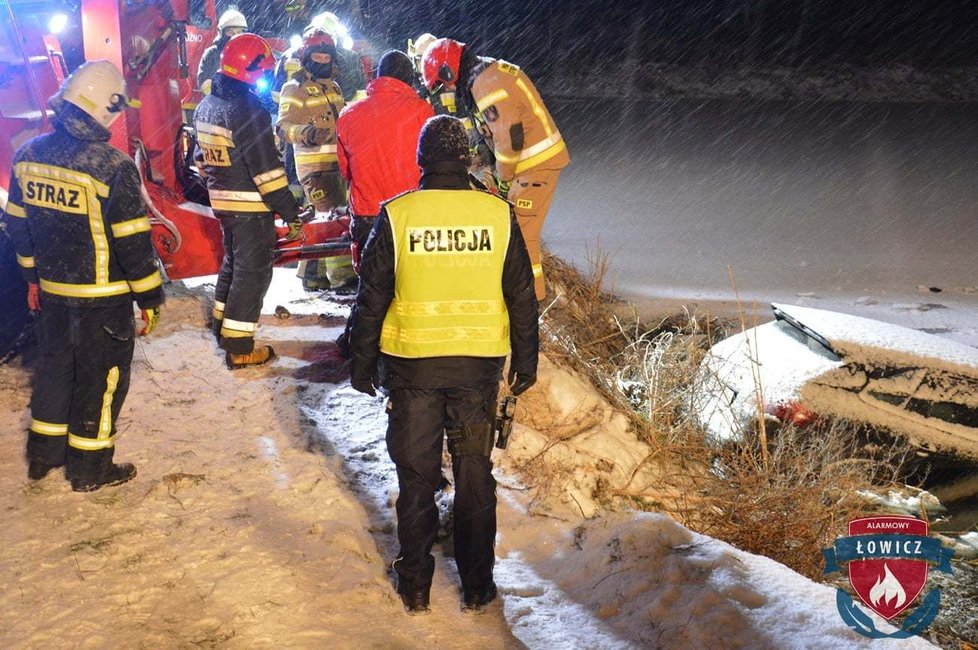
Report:
M482 59L472 71L472 100L503 181L531 169L563 169L567 146L540 93L519 66Z

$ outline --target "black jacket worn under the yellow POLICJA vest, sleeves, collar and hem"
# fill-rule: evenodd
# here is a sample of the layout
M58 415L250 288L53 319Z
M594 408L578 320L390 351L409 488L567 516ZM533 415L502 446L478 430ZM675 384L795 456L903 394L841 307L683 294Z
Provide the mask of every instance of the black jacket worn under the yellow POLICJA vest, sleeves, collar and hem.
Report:
M421 190L470 190L461 163L426 167ZM395 199L396 200L396 199ZM501 199L500 199L501 200ZM469 219L470 215L459 215ZM511 367L535 375L539 354L537 300L526 244L510 209L510 238L503 265L503 299L509 313ZM351 340L351 375L358 380L382 380L388 388L449 388L484 385L499 380L505 357L445 356L409 359L383 355L385 376L378 377L380 336L387 309L394 298L394 241L390 218L382 207L360 262L360 292ZM487 282L499 278L486 278Z

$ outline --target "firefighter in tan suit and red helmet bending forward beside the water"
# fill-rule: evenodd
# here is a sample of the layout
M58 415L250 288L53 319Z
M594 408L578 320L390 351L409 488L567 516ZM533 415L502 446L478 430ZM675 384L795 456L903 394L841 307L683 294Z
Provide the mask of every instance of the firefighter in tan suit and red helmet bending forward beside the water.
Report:
M570 163L557 125L519 66L476 56L465 43L436 40L425 52L422 68L430 91L444 87L461 95L492 149L496 188L516 206L533 261L537 299L543 300L540 233L560 170Z

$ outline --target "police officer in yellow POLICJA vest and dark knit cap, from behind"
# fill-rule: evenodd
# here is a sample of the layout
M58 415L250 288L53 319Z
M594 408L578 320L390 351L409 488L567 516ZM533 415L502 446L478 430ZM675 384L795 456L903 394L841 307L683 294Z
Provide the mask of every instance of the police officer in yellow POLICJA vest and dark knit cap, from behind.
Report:
M512 352L513 394L536 381L530 259L512 206L470 186L468 155L460 120L428 120L418 142L421 188L383 205L360 264L351 384L368 395L381 385L390 391L400 544L393 568L412 614L429 609L446 435L462 609L477 612L495 599L490 453L506 356Z

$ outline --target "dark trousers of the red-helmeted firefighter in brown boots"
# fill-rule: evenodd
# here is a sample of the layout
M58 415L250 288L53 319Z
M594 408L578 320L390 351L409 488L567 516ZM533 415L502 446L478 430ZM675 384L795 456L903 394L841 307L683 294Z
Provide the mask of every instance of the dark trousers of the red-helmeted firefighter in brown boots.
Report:
M214 325L222 348L248 354L255 349L262 301L272 282L275 221L271 216L219 218L224 259L214 287Z

